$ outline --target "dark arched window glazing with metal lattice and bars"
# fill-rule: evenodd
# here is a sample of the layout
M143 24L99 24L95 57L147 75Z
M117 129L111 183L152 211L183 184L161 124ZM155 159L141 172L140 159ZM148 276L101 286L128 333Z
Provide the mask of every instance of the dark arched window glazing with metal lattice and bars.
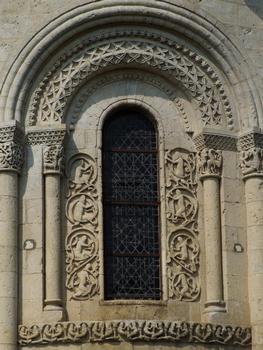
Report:
M158 143L152 121L123 109L103 128L105 299L160 299Z

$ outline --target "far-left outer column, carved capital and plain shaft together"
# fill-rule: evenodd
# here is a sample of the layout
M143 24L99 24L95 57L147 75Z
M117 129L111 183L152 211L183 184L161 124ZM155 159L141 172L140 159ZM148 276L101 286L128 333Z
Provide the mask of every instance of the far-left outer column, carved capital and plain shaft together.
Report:
M19 135L20 134L20 135ZM0 128L0 349L17 349L18 174L23 135L16 124Z

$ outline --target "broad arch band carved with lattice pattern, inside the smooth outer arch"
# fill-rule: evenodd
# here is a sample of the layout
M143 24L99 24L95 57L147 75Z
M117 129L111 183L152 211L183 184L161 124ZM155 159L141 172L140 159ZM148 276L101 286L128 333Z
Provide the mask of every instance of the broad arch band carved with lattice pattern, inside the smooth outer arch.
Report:
M60 123L68 100L89 77L110 65L134 63L169 72L195 99L204 125L233 128L230 102L208 62L183 45L142 30L107 32L65 52L33 94L30 125Z

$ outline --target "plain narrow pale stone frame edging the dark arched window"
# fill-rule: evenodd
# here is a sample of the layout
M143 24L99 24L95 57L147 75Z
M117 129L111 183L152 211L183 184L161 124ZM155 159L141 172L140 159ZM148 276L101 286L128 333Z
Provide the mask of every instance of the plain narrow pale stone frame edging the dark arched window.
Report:
M137 109L141 113L145 113L150 121L153 123L157 135L157 159L158 159L158 183L159 183L159 278L160 278L160 299L105 299L105 285L104 285L104 224L103 224L103 193L102 193L102 130L105 121L110 115L116 113L119 109ZM165 158L164 158L164 131L162 119L159 113L148 104L137 99L123 99L115 101L106 107L99 116L97 127L97 158L98 158L98 186L99 186L99 244L100 244L100 304L158 304L166 305L168 301L168 281L167 281L167 244L166 244L166 216L165 216Z

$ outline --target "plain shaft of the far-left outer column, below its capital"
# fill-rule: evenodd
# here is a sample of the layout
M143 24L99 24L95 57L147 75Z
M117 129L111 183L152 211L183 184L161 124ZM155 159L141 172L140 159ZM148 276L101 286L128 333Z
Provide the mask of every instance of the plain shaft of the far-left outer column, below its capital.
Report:
M0 172L0 348L17 349L17 182Z

